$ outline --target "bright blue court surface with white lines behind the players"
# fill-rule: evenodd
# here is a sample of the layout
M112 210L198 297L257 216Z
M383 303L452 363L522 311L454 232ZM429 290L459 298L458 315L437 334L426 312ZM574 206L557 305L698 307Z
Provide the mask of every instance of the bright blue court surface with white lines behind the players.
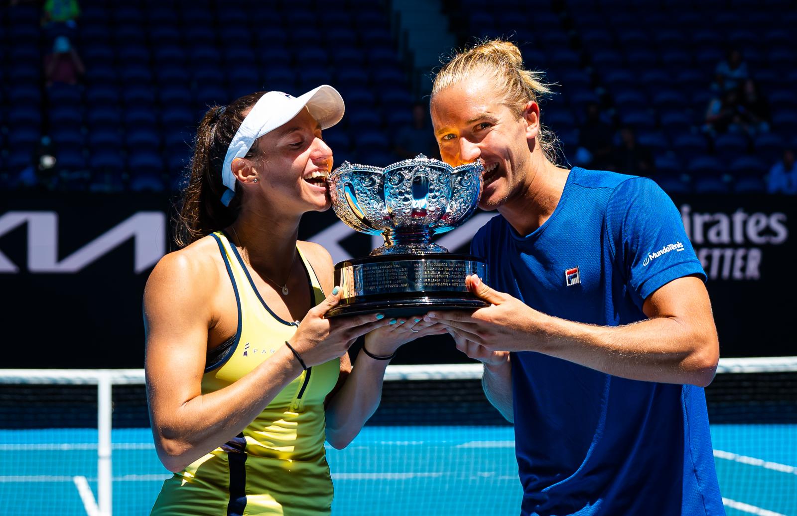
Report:
M169 475L151 433L112 435L113 514L148 514ZM729 516L797 514L797 425L718 424L712 437ZM0 431L0 512L89 514L78 485L96 496L96 442L96 429ZM363 428L345 450L328 448L332 512L518 514L513 446L510 427Z

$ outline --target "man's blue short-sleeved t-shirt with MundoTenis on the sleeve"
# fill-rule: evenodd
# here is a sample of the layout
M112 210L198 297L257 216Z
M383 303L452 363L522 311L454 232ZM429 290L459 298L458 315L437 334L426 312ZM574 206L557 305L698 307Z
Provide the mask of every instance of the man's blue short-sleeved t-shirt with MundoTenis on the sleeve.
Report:
M705 273L650 179L575 167L548 221L521 237L493 217L473 239L487 283L562 319L618 326L682 276ZM512 353L522 514L725 514L703 389Z

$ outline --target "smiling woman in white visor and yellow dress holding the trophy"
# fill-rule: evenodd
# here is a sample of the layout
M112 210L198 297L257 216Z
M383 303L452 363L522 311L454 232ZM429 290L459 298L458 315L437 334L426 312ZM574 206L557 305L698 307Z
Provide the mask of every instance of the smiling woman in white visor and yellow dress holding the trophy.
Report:
M323 317L339 300L332 259L297 233L303 213L330 207L321 131L343 115L324 85L244 96L199 125L182 248L144 292L152 432L175 472L152 514L329 514L324 440L344 448L357 435L398 346L445 331L420 317Z

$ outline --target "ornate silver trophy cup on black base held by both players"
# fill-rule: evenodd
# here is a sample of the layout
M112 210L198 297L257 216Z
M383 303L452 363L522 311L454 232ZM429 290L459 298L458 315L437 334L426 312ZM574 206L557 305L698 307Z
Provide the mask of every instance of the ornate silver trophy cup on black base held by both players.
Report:
M465 288L465 276L486 276L485 261L431 241L473 214L483 170L481 162L453 167L423 154L384 168L344 162L334 170L328 183L336 215L361 233L382 235L385 244L336 264L343 292L327 316L488 306Z

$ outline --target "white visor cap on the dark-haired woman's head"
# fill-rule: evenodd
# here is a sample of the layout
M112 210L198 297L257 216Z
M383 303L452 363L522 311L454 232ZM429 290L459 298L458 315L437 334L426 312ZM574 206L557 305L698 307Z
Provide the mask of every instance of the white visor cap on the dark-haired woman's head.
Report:
M223 205L230 205L235 195L233 160L243 158L256 139L289 123L305 106L310 115L320 123L321 129L332 127L344 117L343 97L327 84L298 97L283 92L268 92L257 100L241 127L238 127L224 157L222 182L227 190L222 195Z

